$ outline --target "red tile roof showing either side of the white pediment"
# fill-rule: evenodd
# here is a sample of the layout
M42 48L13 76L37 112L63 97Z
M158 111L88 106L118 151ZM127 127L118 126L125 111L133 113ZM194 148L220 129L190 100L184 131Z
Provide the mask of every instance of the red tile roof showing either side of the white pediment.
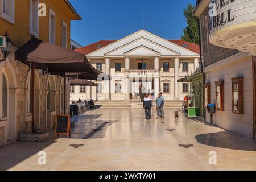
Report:
M81 52L84 53L85 55L88 55L89 53L92 53L94 51L97 51L98 49L108 46L109 44L112 44L114 42L116 42L117 40L100 40L96 43L90 44L88 46L85 47L81 47L79 49L76 49L77 52ZM189 49L192 52L198 53L200 54L200 50L199 50L199 46L194 44L194 43L190 43L187 42L185 40L168 40L174 44L177 44L178 46L184 47L186 49Z

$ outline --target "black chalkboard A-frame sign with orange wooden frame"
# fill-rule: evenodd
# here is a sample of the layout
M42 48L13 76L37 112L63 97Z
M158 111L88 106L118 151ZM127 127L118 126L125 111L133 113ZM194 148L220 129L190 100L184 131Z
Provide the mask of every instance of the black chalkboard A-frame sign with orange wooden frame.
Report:
M59 134L71 136L71 126L69 115L57 115L55 125L55 137Z

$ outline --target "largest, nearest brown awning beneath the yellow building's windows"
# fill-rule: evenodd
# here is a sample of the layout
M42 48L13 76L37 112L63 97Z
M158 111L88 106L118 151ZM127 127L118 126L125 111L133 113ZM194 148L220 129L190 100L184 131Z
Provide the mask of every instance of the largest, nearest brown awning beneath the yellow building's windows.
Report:
M94 68L82 53L72 51L49 42L31 38L15 52L15 59L30 66L35 63L36 69L49 73L89 72Z

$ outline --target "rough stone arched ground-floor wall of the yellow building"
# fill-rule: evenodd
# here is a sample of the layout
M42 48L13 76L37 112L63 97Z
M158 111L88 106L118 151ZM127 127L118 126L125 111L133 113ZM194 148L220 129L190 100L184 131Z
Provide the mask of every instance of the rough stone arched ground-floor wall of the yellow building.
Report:
M28 79L31 77L31 71L28 65L15 60L14 58L14 51L15 48L13 48L9 54L9 57L6 59L6 61L1 63L0 70L4 71L7 75L7 85L9 86L9 117L7 118L7 124L3 126L3 122L0 121L0 146L3 144L6 144L7 139L10 135L10 129L15 131L15 137L14 139L18 139L19 133L27 133L31 132L31 114L27 113L27 83ZM55 87L51 89L52 92L56 92L56 98L52 97L51 100L55 100L55 112L54 114L60 114L64 113L63 110L60 109L60 94L61 90L64 90L64 79L60 76L56 75L49 75L48 73L43 74L43 71L37 70L35 71L35 90L39 93L38 98L35 98L35 100L38 99L38 104L35 104L35 112L38 110L38 113L35 113L35 118L38 118L35 121L36 125L39 125L39 119L40 119L40 129L42 131L46 131L46 122L47 122L47 114L46 114L46 104L47 104L47 78L53 77L53 80L55 80L56 90ZM12 83L13 80L16 82L16 86L13 86ZM62 86L62 88L61 88ZM14 88L15 87L15 88ZM40 88L40 89L39 89ZM67 84L67 88L69 88L69 85ZM15 90L15 102L10 103L10 92L14 92L11 90ZM67 89L69 91L69 89ZM62 91L63 92L63 91ZM2 93L2 91L0 92ZM67 96L67 111L69 112L68 103L69 103L69 92ZM36 102L36 101L35 101ZM15 107L16 106L16 107ZM39 114L39 115L38 115ZM14 115L14 117L13 117ZM52 123L55 122L55 117L52 117ZM37 123L38 122L38 123ZM11 125L11 123L15 123L15 125ZM51 124L51 128L54 125ZM9 127L9 128L8 128ZM10 128L14 127L14 128ZM39 127L39 126L37 126ZM9 133L4 133L4 131L7 129ZM6 136L3 136L6 135Z

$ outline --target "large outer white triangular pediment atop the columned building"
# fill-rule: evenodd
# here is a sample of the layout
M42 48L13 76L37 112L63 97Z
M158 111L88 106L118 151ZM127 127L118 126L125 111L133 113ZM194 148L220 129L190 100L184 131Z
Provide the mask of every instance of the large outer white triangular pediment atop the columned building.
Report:
M116 42L109 44L97 51L89 53L88 57L103 57L103 56L123 56L128 51L135 49L139 46L144 46L152 49L155 52L159 52L160 56L199 56L197 53L192 52L184 47L178 46L166 39L160 38L145 30L140 30L126 36L123 39L117 40ZM141 49L146 51L146 49ZM136 53L136 52L134 52ZM150 53L147 52L146 53ZM137 53L138 54L138 53Z

